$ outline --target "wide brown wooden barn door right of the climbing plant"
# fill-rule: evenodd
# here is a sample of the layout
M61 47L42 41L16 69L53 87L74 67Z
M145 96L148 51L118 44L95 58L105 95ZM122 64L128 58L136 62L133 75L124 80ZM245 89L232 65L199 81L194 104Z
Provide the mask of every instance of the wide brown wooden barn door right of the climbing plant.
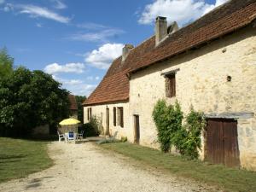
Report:
M240 166L235 119L208 119L206 159L225 166Z

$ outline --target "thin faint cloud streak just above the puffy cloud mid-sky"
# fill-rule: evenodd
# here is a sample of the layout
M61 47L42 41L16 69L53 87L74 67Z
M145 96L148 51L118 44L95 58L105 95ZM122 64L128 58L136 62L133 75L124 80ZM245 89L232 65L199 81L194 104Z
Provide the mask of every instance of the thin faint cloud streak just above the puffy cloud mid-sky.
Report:
M69 37L69 39L75 41L108 42L108 38L116 37L121 33L124 33L124 31L121 29L105 29L100 32L73 34Z

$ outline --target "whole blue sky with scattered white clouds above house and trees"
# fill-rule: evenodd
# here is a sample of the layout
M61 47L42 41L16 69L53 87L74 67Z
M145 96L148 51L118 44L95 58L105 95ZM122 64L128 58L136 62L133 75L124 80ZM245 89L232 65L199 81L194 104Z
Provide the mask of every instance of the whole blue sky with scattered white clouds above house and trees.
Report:
M88 96L124 44L154 34L154 18L185 26L226 0L0 0L0 48L15 66L50 73Z

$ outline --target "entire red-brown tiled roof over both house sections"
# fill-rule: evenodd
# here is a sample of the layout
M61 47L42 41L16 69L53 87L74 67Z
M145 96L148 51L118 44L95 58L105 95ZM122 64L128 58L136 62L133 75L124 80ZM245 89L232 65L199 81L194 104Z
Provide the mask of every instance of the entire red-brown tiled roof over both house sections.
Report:
M155 47L154 36L131 49L124 62L113 61L102 82L96 87L85 105L117 102L129 99L129 79L133 73L158 61L234 32L256 19L256 0L232 0L199 20L172 33Z

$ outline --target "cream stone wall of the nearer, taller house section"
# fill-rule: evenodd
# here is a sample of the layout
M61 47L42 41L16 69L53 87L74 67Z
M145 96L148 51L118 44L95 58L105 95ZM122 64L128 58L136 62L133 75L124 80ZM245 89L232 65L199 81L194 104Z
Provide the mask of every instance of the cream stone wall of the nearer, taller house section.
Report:
M129 117L132 122L134 114L140 116L140 141L143 145L158 147L152 111L155 102L166 98L165 78L161 73L176 69L179 69L176 97L168 98L167 102L177 100L184 113L193 106L209 116L238 119L241 166L256 170L255 28L248 26L200 49L131 75ZM203 151L204 148L201 158Z

